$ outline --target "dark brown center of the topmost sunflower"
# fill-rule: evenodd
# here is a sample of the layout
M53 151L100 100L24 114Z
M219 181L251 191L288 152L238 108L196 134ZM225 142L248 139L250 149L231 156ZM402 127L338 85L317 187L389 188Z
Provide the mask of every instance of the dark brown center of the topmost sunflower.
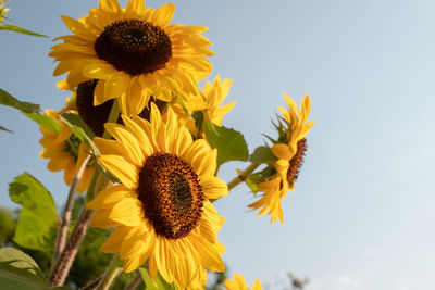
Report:
M164 30L141 20L113 22L94 48L99 59L132 76L163 68L172 56L171 39Z

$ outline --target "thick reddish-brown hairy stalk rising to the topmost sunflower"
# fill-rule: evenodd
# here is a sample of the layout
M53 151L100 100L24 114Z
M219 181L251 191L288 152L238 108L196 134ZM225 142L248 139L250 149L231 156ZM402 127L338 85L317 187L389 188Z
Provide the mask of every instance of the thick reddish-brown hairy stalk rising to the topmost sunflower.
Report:
M120 116L120 108L116 100L113 102L108 123L116 122ZM107 130L103 134L104 138L110 138ZM102 174L99 167L94 169L92 178L88 191L86 193L86 200L94 199L94 197L108 186L109 179ZM77 255L78 248L85 238L88 229L88 223L92 217L94 212L84 207L82 213L74 226L73 232L71 234L65 248L59 255L58 260L53 264L50 272L49 281L52 287L62 286L70 273L71 266Z

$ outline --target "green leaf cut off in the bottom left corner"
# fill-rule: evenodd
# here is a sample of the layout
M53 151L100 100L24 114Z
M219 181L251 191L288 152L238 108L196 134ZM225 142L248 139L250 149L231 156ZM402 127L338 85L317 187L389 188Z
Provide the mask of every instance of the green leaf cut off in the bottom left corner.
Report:
M14 290L50 289L36 262L13 248L0 249L0 286L1 289Z

